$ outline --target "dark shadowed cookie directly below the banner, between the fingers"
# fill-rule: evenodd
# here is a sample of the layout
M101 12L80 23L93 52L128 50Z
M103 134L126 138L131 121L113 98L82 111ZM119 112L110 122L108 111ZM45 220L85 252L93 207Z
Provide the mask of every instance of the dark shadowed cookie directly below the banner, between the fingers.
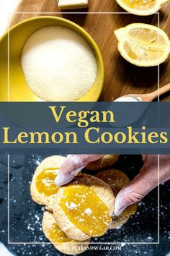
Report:
M89 171L100 171L105 168L110 168L118 160L119 155L104 155L97 161L89 163L85 169Z

